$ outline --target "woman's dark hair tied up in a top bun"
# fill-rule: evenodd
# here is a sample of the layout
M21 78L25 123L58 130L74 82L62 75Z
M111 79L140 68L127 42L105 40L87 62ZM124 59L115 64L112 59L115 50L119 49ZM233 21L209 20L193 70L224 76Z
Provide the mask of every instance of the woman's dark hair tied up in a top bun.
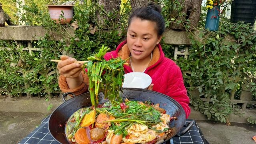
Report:
M161 14L162 8L154 2L150 2L147 7L141 7L134 11L129 16L128 28L132 21L132 18L140 18L141 20L149 20L156 22L156 30L158 36L161 36L165 30L164 18Z

